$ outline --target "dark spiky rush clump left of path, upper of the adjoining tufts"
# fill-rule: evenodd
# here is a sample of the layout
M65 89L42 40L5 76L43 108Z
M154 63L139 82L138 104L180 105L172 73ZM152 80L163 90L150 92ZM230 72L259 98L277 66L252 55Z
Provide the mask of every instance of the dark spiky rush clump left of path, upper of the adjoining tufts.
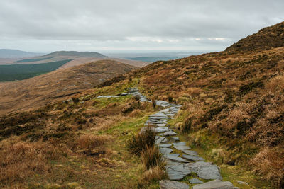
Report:
M131 136L129 141L126 143L126 147L132 154L139 155L144 149L154 146L155 136L156 134L153 127L145 127L145 130L142 132Z

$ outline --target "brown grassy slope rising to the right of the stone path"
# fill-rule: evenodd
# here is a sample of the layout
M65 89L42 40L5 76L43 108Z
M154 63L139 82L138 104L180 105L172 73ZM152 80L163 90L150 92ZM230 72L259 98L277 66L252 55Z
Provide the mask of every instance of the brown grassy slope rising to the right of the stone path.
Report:
M224 52L155 62L132 73L146 96L182 104L174 124L180 129L191 120L185 137L192 147L217 164L246 167L277 188L284 187L284 42L275 43L274 34L284 33L282 25Z

